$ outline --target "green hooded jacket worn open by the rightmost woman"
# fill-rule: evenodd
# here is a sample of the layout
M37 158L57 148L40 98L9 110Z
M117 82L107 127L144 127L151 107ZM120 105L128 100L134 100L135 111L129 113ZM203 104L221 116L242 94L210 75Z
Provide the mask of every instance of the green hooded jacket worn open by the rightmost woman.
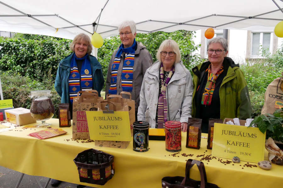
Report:
M193 101L192 101L192 117L196 116L195 94L199 81L203 77L205 70L210 65L210 62L204 62L192 69L193 71ZM247 82L244 78L238 64L225 57L223 61L224 68L228 68L227 75L223 78L223 81L219 89L220 97L220 119L225 118L239 118L247 119L251 118L252 107L249 97L249 91L247 88Z

